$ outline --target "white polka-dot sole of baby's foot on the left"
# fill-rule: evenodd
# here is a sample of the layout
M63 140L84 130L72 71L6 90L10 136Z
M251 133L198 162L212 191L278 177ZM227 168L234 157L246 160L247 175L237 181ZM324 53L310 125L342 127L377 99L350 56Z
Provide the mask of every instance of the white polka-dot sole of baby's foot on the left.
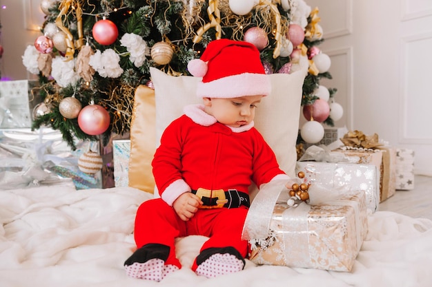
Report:
M133 278L161 281L166 275L179 270L177 266L165 265L164 260L153 258L144 263L135 262L125 266L126 274Z

